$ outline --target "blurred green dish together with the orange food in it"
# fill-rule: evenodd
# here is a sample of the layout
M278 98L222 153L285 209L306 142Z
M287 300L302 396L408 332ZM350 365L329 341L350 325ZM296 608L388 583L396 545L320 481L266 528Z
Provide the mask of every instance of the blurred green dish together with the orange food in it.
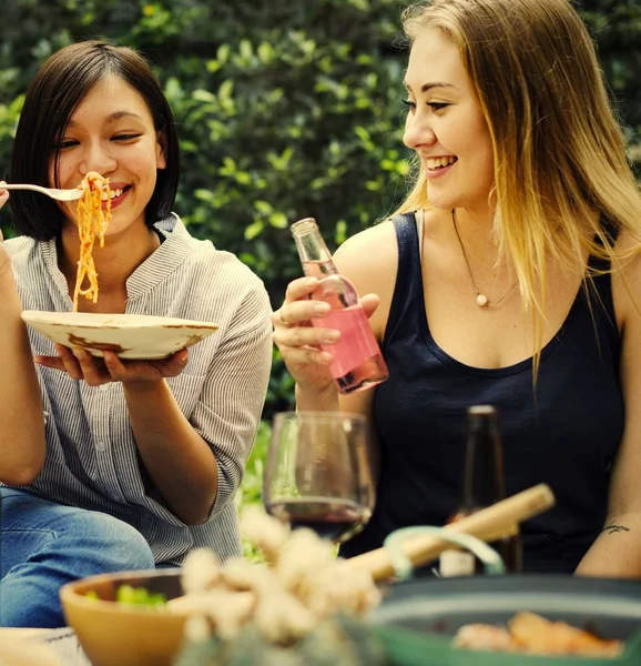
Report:
M641 582L552 574L420 578L369 616L395 666L641 664Z

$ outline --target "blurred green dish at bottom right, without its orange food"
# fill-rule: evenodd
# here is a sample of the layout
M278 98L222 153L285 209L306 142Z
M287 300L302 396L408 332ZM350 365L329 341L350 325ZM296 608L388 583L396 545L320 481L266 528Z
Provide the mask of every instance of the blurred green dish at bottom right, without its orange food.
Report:
M466 624L505 624L529 610L604 638L617 658L541 657L456 648ZM395 666L641 666L641 582L562 575L423 578L397 583L370 615Z

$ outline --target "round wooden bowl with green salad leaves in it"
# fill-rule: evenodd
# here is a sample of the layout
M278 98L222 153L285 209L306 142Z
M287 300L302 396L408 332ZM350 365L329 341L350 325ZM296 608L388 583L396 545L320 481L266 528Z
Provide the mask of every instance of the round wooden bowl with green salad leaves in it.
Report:
M63 585L62 608L93 666L171 666L183 642L186 615L115 602L121 585L182 595L181 571L123 572ZM87 597L93 591L98 599Z

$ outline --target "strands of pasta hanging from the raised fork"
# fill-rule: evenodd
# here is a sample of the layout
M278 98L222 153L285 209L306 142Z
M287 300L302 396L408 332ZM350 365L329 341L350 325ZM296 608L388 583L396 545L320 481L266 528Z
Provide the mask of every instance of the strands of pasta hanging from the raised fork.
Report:
M111 190L109 179L95 171L89 171L82 183L82 196L78 200L78 236L80 238L80 259L73 290L73 312L78 312L78 299L84 296L98 302L98 273L93 261L93 244L95 236L100 239L100 246L104 246L104 232L111 221ZM103 210L102 202L106 198ZM83 287L84 282L89 285Z

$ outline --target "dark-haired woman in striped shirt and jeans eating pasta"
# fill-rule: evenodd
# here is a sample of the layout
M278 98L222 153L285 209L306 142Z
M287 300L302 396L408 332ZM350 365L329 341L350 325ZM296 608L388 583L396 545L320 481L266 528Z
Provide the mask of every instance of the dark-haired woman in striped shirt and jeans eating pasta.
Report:
M77 206L11 194L21 235L0 245L2 626L60 626L58 591L81 576L180 565L196 546L222 561L241 553L233 496L266 392L268 297L172 212L167 101L135 51L99 41L60 50L35 75L11 181L75 188L89 171L110 179L112 221L93 252L98 302L81 299L80 310L220 329L153 362L105 352L98 363L28 339L21 309L72 309Z

